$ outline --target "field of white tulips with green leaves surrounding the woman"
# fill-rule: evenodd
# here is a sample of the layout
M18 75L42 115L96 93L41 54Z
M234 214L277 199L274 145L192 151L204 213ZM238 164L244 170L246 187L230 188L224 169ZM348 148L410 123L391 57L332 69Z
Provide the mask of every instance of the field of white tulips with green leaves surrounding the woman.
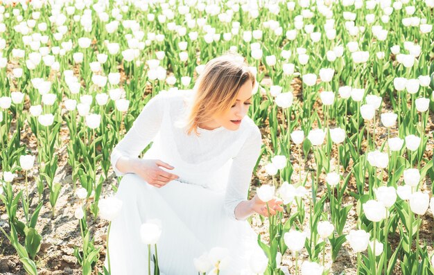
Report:
M433 23L434 0L1 1L0 274L110 274L114 146L232 51L263 139L246 199L284 202L248 218L241 274L434 275Z

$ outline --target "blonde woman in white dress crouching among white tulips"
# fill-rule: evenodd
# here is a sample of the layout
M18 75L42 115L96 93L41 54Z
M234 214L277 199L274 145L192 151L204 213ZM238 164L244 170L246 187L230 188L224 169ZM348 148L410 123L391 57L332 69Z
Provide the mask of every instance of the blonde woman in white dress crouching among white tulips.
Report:
M146 104L111 155L114 172L123 175L116 193L123 207L108 244L112 275L148 274L139 229L154 219L161 221L162 273L197 274L193 258L213 247L230 254L220 274L248 269L260 248L246 219L268 215L257 195L246 199L261 150L261 132L245 116L254 85L243 57L229 53L206 64L193 91L160 93ZM283 211L281 201L269 205L272 215Z

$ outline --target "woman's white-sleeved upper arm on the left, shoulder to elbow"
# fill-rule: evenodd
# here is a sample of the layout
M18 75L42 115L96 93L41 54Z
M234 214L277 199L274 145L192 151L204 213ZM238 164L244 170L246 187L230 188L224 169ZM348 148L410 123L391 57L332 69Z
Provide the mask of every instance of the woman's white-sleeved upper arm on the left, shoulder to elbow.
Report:
M139 154L155 137L164 114L164 95L151 98L132 123L123 139L113 148L110 162L116 176L134 172Z

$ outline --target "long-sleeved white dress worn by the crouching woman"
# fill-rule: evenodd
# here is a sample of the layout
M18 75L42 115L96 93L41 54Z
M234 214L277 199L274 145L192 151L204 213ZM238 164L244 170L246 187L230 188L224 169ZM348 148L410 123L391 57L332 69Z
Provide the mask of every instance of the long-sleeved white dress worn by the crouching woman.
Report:
M193 258L213 247L226 247L230 253L230 265L220 274L241 274L252 251L261 250L248 221L234 215L235 207L247 199L261 132L245 116L235 131L198 128L200 136L187 135L175 121L186 114L192 96L192 90L179 90L151 98L112 151L114 172L123 176L116 193L123 207L109 236L112 275L148 274L148 247L139 229L150 219L162 222L157 255L160 272L166 275L198 274ZM180 177L162 188L116 169L119 157L138 157L150 141L153 145L143 159L160 159L175 167L160 168Z

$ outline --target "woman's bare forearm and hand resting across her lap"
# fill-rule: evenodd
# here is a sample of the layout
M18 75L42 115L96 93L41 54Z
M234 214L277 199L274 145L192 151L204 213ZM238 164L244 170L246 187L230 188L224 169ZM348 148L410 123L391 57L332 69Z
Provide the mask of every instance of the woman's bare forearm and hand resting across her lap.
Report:
M159 166L167 169L174 168L159 159L137 159L134 162L134 173L157 188L165 186L169 181L180 178L175 174L162 170Z

